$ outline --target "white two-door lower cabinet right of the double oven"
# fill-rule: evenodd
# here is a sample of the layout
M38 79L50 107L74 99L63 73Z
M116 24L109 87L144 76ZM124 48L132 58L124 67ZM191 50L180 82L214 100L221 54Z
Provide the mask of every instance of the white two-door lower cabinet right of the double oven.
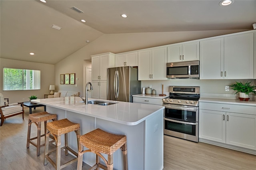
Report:
M204 109L199 109L199 138L256 150L256 113L246 114L246 106L239 106L244 107L244 113L234 113L216 111L233 111L232 105L211 103L216 110L205 109L207 104L200 105Z

